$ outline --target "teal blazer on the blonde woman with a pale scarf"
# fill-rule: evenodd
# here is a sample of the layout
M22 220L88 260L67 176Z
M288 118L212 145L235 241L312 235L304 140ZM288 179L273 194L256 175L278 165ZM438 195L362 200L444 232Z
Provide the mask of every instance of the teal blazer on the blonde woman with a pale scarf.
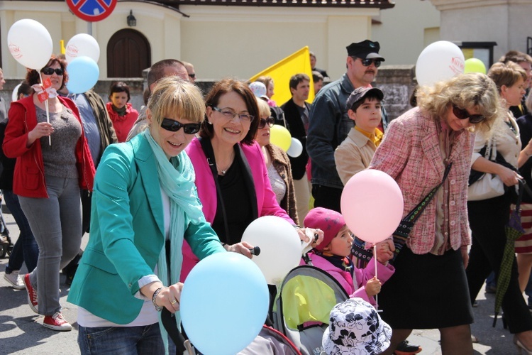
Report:
M94 179L90 230L68 301L117 324L132 322L143 305L134 297L138 280L153 274L165 247L155 155L142 134L106 148ZM204 218L184 230L200 259L225 251Z

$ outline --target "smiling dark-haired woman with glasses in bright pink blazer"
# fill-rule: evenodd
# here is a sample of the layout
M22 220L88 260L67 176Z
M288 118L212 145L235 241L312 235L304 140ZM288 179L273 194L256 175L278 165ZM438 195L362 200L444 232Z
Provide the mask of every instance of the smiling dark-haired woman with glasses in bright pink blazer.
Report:
M259 124L255 95L248 85L225 79L214 84L206 97L206 119L199 138L187 147L198 196L207 222L227 246L239 244L247 226L258 217L277 216L298 229L275 198L259 144L254 140ZM323 239L323 232L318 231ZM251 257L243 243L240 252ZM184 245L182 280L198 259Z

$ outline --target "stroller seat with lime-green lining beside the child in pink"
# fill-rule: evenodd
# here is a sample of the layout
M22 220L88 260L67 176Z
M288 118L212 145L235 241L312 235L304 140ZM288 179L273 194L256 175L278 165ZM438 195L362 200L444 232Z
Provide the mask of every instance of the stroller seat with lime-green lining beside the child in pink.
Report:
M321 354L321 338L333 307L349 298L331 275L311 265L297 266L284 278L273 311L275 329L301 354Z

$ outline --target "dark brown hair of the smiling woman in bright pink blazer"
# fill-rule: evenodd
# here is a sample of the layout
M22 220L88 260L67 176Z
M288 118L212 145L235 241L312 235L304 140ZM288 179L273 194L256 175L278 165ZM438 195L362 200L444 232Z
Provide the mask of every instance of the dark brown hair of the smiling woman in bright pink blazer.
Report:
M259 108L257 106L257 99L255 99L255 94L253 94L250 87L248 87L245 82L240 82L239 80L231 78L222 79L219 82L216 82L205 98L206 106L217 106L220 97L228 92L235 92L240 95L245 102L245 107L248 109L249 114L255 117L255 119L251 121L250 131L248 131L248 134L246 134L242 140L243 144L251 146L254 142L255 134L257 133L257 128L259 126L260 114ZM199 136L209 139L213 138L214 136L213 126L209 124L209 121L206 119L201 122L201 131L199 131Z

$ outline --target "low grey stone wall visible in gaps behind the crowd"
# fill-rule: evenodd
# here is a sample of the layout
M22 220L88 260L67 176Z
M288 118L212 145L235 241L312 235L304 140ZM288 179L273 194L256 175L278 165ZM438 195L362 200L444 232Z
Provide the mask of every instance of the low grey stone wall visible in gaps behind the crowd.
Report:
M143 74L143 78L99 80L94 87L94 91L104 99L104 102L108 102L107 97L109 97L111 83L116 81L126 82L130 89L131 104L133 104L135 109L139 110L144 104L143 91L146 87L145 73ZM383 65L379 68L379 74L377 75L374 86L382 89L382 92L384 92L384 104L386 105L389 119L395 119L410 109L409 97L416 87L414 77L414 65ZM11 93L21 80L6 79L4 89L0 92L0 95L6 100L8 109L9 104L11 104ZM214 82L211 80L199 80L196 84L206 94Z

